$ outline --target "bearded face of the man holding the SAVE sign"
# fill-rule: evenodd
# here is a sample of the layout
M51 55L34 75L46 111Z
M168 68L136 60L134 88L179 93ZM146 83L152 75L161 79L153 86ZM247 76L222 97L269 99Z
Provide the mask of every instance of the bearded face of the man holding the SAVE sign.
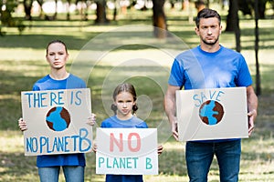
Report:
M216 17L201 18L199 27L195 28L196 35L200 36L202 44L215 45L218 43L222 26Z

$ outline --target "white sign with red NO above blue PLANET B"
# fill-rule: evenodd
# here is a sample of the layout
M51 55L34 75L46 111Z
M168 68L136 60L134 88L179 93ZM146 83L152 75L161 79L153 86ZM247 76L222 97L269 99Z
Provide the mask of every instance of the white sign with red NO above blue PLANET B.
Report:
M157 175L157 129L97 128L96 174Z

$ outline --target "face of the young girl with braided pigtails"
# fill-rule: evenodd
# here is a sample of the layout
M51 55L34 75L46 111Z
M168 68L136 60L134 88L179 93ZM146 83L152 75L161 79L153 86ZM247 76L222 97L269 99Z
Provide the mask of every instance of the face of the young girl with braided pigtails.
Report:
M117 117L126 120L132 117L132 106L135 105L133 96L129 92L121 92L116 96L115 105L117 106Z

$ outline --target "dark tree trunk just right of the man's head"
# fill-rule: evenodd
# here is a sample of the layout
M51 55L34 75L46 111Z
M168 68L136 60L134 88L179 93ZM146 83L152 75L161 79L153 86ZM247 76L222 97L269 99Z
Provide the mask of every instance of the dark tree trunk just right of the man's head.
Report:
M238 4L237 0L229 1L229 10L227 15L227 32L234 32L236 37L236 50L237 52L241 51L240 45L240 29L239 29L239 20L238 20Z

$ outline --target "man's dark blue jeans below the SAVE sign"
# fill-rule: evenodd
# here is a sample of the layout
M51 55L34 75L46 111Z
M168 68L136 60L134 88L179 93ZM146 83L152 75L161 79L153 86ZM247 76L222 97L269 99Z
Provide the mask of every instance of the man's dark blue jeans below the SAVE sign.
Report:
M190 182L206 182L214 155L221 182L237 182L241 156L241 140L225 142L187 142L185 159Z

